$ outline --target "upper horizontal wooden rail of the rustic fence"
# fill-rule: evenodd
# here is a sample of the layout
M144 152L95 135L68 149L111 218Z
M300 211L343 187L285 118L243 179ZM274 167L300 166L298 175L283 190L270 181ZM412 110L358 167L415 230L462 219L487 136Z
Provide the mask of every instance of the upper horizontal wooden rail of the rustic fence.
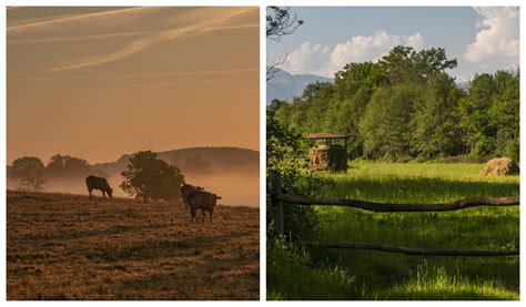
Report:
M518 206L519 197L474 197L442 204L388 204L360 199L336 199L326 197L297 197L285 194L271 194L276 201L303 206L344 206L373 212L443 212L478 206Z

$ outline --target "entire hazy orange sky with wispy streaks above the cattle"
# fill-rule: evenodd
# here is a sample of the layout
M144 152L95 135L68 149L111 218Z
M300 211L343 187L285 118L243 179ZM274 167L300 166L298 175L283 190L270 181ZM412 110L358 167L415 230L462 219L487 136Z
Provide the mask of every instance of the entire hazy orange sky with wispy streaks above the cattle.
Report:
M8 163L259 150L257 8L8 9Z

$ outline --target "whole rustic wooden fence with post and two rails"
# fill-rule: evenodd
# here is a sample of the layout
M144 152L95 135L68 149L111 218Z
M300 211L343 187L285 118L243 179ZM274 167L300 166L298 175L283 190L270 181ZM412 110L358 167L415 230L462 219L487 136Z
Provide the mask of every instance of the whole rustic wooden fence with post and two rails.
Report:
M297 197L293 195L282 194L281 175L277 172L269 173L269 195L271 207L273 208L273 221L276 232L280 235L284 233L283 204L303 205L303 206L345 206L360 208L371 212L446 212L465 209L477 206L518 206L519 197L475 197L458 199L444 204L382 204L358 199L336 199L327 197ZM366 243L322 243L322 242L303 242L303 245L322 247L322 248L351 248L351 249L370 249L387 253L398 253L416 256L464 256L464 257L497 257L497 256L516 256L519 249L499 249L499 250L461 250L461 249L415 249L399 246L388 246Z

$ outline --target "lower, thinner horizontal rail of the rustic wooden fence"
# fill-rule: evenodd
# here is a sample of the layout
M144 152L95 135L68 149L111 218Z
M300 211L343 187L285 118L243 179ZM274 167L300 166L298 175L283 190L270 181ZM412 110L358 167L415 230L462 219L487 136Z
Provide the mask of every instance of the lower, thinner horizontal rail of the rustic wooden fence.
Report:
M388 246L381 244L367 243L323 243L323 242L303 242L305 246L321 248L346 248L346 249L368 249L386 253L396 253L411 256L431 256L431 257L499 257L499 256L518 256L519 249L500 249L500 250L462 250L462 249L416 249L399 246Z

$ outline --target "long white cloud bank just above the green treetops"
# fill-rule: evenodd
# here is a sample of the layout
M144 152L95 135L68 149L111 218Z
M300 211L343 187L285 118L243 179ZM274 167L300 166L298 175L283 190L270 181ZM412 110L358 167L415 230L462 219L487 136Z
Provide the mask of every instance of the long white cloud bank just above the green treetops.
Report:
M419 50L424 47L424 39L419 33L401 37L378 30L373 35L353 37L334 48L307 41L289 54L282 69L296 74L313 73L332 78L347 63L376 61L399 44Z

